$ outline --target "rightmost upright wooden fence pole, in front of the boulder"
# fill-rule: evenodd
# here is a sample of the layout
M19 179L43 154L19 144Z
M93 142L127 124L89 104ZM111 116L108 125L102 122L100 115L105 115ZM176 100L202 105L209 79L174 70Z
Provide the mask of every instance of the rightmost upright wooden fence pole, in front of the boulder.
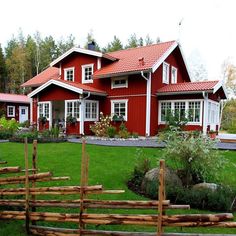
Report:
M164 160L160 160L160 171L159 171L159 189L158 189L158 222L157 222L157 236L161 236L163 233L162 229L162 215L163 215L163 200L164 194Z

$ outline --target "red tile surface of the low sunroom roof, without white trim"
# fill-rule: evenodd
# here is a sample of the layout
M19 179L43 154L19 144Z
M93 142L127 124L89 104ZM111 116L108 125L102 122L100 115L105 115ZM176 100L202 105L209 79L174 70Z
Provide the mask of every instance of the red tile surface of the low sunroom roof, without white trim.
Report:
M178 84L169 84L157 90L157 93L178 93L191 91L209 91L219 81L187 82Z

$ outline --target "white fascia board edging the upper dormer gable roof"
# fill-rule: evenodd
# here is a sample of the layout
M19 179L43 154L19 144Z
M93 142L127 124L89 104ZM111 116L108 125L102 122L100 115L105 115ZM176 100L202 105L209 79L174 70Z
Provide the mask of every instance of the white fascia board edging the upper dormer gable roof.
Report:
M53 62L51 62L50 66L56 65L58 62L60 62L61 60L63 60L64 58L66 58L67 56L69 56L73 52L78 52L78 53L82 53L82 54L86 54L86 55L90 55L90 56L95 56L95 57L104 57L104 58L107 58L111 61L117 60L116 58L109 56L107 54L103 54L101 52L96 52L96 51L88 50L88 49L84 49L84 48L73 47L70 50L68 50L67 52L65 52L64 54L62 54L60 57L55 59Z

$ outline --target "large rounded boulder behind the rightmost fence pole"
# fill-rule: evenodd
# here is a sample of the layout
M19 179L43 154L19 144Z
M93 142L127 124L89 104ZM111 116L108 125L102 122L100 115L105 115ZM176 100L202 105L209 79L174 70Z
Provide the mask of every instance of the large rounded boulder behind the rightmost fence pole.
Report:
M151 197L156 198L158 193L158 180L159 180L159 171L160 169L154 168L148 171L145 174L145 177L142 181L141 190L142 192ZM165 170L165 185L166 187L182 187L182 181L175 173L174 170L166 168Z

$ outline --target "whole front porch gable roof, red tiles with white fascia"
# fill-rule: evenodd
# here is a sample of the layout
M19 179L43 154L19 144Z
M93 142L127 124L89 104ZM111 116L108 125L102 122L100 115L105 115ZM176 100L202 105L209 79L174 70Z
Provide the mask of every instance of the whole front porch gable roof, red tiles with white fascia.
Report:
M40 87L38 87L37 89L35 89L34 91L32 91L31 93L29 93L28 97L31 98L31 97L35 96L36 94L38 94L42 90L46 89L50 85L56 85L56 86L68 89L70 91L79 93L79 94L91 93L93 95L98 95L98 96L106 96L107 95L105 91L90 87L88 85L84 85L84 84L76 83L76 82L71 82L71 81L64 81L61 79L51 79L51 80L47 81L46 83L44 83L43 85L41 85Z

